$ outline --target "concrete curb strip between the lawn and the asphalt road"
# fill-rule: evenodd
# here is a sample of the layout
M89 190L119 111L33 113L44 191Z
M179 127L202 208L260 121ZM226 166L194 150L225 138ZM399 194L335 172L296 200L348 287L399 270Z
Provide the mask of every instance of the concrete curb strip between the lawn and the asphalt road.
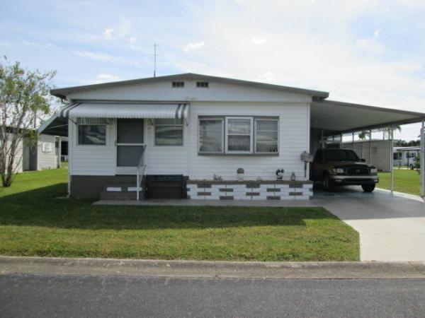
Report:
M206 278L425 278L425 262L166 261L0 256L0 274L11 273Z

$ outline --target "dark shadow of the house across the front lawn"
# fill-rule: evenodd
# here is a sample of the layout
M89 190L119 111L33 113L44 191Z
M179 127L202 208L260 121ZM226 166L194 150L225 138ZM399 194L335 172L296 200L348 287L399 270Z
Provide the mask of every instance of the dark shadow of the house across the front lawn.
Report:
M305 226L305 219L337 220L317 207L92 206L92 200L55 199L66 184L0 198L0 225L77 229L235 228Z

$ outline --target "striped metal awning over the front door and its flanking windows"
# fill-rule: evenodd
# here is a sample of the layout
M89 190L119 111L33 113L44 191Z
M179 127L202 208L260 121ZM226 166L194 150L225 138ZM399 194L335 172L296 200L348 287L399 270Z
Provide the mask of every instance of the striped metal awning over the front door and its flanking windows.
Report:
M85 118L176 118L187 119L188 103L130 104L112 102L74 102L57 111L57 117Z

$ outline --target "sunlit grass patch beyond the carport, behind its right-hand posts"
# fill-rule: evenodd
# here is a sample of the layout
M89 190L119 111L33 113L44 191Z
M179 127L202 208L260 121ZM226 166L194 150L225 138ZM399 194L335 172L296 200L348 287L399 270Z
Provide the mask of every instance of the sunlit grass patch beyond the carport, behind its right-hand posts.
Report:
M394 170L394 189L397 192L419 195L419 180L419 170ZM390 172L379 173L379 183L377 186L382 189L391 188Z

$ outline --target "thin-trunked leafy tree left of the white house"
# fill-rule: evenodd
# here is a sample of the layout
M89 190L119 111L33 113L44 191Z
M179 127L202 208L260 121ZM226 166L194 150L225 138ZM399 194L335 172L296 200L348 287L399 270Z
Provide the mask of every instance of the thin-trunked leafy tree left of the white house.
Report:
M50 83L55 71L31 71L19 62L0 61L0 175L3 187L10 187L22 155L24 138L35 144L37 119L50 114Z

